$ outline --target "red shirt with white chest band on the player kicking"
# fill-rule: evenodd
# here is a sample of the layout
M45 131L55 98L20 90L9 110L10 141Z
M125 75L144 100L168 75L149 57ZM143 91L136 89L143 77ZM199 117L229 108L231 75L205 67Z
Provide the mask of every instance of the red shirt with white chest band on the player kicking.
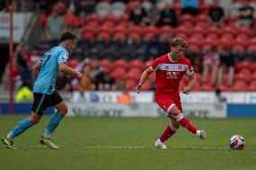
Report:
M165 54L160 58L156 58L151 69L156 71L156 95L160 94L179 94L179 82L186 73L191 75L194 73L190 61L181 57L178 61L172 61L169 54Z

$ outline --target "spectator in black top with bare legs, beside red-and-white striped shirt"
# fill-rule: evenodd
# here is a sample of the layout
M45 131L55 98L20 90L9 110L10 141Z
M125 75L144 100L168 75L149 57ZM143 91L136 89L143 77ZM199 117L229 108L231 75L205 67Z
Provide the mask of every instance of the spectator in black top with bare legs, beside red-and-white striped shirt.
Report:
M233 85L234 75L234 58L233 55L225 47L219 49L220 65L218 68L217 85L223 84L224 70L228 70L228 85Z

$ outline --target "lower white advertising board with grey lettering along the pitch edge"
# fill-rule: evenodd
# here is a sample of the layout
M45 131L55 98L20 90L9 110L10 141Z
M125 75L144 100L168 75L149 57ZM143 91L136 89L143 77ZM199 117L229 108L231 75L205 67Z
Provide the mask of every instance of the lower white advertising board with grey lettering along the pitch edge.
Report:
M160 117L166 112L156 103L68 103L69 116L96 117ZM183 113L188 117L225 118L226 104L185 104Z

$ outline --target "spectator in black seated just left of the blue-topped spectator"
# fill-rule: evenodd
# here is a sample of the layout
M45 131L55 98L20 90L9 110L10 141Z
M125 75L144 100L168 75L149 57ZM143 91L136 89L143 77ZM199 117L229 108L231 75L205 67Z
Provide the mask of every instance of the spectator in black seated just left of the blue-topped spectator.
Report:
M177 14L170 4L166 4L165 8L160 12L160 19L157 25L169 25L171 27L178 26Z

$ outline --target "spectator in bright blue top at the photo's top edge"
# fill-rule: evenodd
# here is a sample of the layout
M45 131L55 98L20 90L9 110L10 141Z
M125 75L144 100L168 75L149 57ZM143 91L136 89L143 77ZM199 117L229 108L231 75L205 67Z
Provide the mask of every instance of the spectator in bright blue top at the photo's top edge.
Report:
M199 13L199 2L198 0L181 0L181 13L182 14L193 14L197 15Z

